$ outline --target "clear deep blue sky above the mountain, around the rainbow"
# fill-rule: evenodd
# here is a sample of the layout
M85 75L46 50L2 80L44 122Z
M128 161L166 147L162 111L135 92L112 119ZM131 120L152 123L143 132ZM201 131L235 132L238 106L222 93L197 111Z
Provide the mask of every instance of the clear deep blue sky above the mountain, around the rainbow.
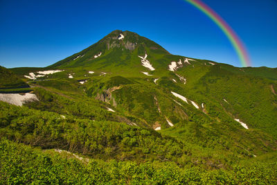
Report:
M238 33L254 67L277 67L276 0L202 1ZM172 54L241 67L222 30L184 0L0 0L0 65L46 67L116 29Z

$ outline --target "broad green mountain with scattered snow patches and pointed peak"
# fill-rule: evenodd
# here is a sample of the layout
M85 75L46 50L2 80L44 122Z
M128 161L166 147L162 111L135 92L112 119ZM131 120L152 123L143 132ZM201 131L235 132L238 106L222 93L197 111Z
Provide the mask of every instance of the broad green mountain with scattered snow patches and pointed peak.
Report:
M74 171L80 178L102 170L94 183L276 182L265 169L276 169L277 69L172 55L115 30L51 66L10 70L35 97L22 107L0 102L3 156L45 155L51 170L65 163L55 155L74 158L86 169Z

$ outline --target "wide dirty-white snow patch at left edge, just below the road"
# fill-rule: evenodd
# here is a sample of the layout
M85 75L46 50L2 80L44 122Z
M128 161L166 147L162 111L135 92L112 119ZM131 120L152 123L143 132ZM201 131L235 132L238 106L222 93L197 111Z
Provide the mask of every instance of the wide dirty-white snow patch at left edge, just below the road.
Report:
M26 102L30 101L38 101L37 96L35 94L26 93L24 95L20 94L0 94L0 100L6 103L10 103L12 105L21 106Z

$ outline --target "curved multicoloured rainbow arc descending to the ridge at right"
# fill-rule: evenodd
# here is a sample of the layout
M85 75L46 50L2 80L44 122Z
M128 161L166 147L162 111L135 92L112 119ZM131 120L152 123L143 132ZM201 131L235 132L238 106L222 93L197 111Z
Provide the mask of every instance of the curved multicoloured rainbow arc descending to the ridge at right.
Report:
M212 10L200 0L184 1L187 1L188 3L192 4L193 6L204 12L205 15L210 17L215 22L215 24L220 27L223 33L225 33L226 37L228 37L228 39L230 40L236 53L238 53L238 57L240 58L242 67L251 66L249 55L247 54L244 44L240 41L240 38L235 33L235 31L226 23L226 21L224 21L224 19L222 19L222 17L220 17L220 15L218 15L214 10Z

